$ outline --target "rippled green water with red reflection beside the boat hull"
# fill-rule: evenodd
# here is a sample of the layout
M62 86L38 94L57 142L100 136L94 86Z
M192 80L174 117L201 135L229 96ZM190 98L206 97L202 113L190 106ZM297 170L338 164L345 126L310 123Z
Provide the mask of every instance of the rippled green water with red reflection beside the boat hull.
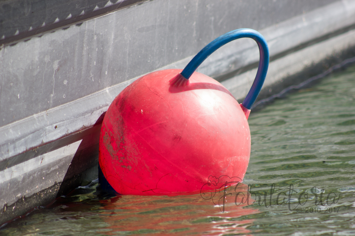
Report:
M109 198L93 183L0 235L355 235L355 66L252 113L249 124L251 158L237 190L211 200ZM239 205L248 184L249 206Z

